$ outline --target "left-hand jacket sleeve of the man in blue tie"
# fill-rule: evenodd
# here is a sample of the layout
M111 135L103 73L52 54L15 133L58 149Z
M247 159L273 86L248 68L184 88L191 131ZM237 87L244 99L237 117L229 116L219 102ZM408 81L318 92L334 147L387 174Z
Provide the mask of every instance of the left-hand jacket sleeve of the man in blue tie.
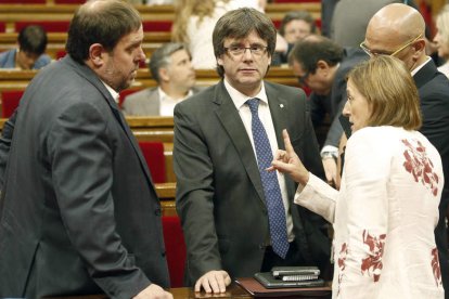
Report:
M214 166L197 121L184 105L175 107L176 207L182 221L191 283L222 268L214 221Z

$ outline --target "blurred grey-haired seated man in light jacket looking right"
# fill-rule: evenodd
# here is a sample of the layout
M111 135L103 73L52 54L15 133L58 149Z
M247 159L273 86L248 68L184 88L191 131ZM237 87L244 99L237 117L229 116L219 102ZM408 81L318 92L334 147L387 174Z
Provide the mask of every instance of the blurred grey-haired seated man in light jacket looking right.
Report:
M150 73L158 87L128 95L123 104L126 115L172 116L175 105L200 91L191 55L182 43L166 43L151 55Z

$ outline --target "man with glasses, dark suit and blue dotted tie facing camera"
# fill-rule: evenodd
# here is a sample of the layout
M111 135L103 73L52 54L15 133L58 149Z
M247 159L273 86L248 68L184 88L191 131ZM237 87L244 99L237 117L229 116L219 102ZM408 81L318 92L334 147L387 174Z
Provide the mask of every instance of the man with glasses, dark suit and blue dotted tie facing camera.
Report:
M303 161L324 178L304 91L264 81L275 36L270 18L254 9L224 14L213 34L221 81L175 107L176 206L187 284L195 290L223 292L231 278L274 265L316 264L323 272L329 265L329 223L293 205L291 179L266 178L271 160L261 157L283 148L283 129Z

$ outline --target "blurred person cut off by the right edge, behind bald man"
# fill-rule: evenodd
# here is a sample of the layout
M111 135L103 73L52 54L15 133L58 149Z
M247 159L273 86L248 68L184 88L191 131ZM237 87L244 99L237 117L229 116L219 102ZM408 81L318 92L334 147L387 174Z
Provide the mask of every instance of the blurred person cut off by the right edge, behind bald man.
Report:
M438 67L438 70L449 77L449 4L446 4L438 13L436 18L437 32L434 38L438 51L438 57L445 63Z

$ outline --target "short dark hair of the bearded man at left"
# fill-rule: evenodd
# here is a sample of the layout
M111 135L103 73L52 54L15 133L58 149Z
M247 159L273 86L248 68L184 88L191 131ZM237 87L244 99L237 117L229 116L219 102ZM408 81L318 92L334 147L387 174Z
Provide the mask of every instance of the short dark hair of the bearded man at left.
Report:
M67 53L78 63L89 56L89 48L101 43L112 52L118 41L142 25L139 12L119 0L89 1L79 6L70 22Z

